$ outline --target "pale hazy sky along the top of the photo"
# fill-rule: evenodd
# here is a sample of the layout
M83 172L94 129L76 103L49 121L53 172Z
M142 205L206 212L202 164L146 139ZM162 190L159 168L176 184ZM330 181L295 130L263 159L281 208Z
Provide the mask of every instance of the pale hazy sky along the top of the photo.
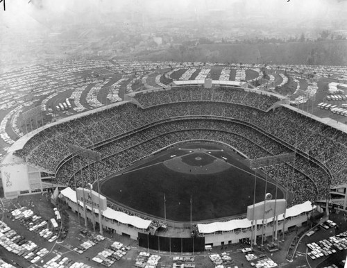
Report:
M2 9L2 3L0 3ZM1 25L30 27L51 20L81 20L103 13L134 10L149 15L194 14L208 10L226 10L243 16L261 14L282 19L336 19L347 16L346 0L6 0L6 11L0 12ZM31 25L32 24L32 25Z

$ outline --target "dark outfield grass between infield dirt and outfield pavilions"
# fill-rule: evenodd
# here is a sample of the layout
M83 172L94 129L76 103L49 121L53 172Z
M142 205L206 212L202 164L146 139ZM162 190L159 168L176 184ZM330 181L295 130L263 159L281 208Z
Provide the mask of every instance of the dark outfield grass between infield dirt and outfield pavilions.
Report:
M214 174L184 174L168 169L162 165L162 160L167 160L172 152L168 154L151 158L151 164L155 161L157 164L108 179L102 183L101 192L112 201L162 218L165 195L167 219L175 221L190 220L191 196L193 221L242 215L253 203L253 171L231 154L228 162L235 167ZM196 156L192 153L185 158L194 162ZM266 192L275 196L276 187L268 183ZM258 178L256 202L264 200L264 194L265 182ZM282 197L278 190L278 199Z

